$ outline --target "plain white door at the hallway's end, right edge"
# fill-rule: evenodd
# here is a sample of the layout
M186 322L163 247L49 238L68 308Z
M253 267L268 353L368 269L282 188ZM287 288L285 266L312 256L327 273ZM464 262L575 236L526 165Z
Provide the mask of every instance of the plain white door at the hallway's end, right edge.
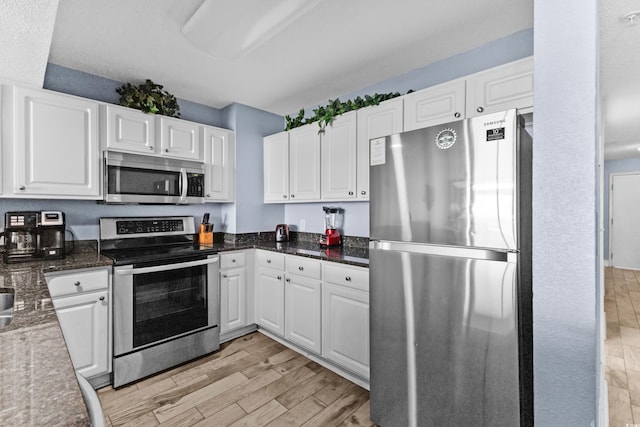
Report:
M609 188L609 262L640 269L640 174L612 174Z

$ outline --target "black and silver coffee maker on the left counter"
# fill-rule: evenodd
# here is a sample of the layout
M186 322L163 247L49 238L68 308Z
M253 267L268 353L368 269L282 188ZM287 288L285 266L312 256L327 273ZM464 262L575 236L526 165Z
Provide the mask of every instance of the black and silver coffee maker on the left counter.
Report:
M65 221L60 211L7 212L4 261L32 261L65 256Z

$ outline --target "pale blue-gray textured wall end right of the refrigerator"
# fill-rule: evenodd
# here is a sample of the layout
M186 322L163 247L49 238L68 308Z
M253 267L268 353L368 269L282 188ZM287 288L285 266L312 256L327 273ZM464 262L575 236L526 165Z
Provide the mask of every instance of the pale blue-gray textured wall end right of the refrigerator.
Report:
M533 334L537 426L596 425L598 1L534 2Z

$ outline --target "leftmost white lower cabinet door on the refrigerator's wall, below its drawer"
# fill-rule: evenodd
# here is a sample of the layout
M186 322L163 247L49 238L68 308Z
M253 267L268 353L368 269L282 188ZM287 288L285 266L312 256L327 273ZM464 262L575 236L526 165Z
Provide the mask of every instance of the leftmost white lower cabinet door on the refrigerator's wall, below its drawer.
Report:
M256 323L284 336L284 273L260 268L256 283Z

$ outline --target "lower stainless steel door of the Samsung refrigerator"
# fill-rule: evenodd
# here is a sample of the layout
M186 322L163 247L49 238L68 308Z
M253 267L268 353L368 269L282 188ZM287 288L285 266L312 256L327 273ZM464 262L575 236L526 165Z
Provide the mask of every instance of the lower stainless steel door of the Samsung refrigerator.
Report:
M517 263L369 256L372 421L520 425Z

